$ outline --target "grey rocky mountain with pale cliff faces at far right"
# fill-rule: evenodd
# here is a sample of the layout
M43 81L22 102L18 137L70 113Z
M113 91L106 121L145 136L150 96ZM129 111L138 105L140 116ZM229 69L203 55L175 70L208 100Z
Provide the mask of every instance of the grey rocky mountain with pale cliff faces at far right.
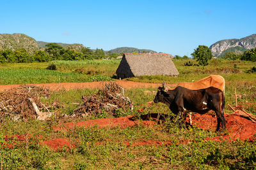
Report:
M241 39L223 39L210 46L212 55L223 56L226 52L242 53L256 47L256 34Z

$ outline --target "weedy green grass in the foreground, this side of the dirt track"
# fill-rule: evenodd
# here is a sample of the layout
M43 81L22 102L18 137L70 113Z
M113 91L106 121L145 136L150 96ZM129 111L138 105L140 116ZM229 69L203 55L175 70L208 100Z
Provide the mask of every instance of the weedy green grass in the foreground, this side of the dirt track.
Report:
M237 87L237 92L246 95L255 92L250 83ZM227 103L234 103L234 85L226 90ZM141 104L152 101L156 89L129 89L125 94L134 102L134 111L129 115L138 115ZM45 105L54 100L60 101L61 107L57 114L70 114L77 108L71 103L81 103L81 96L95 94L97 89L69 90L51 92L49 99L42 99ZM239 99L252 101L255 99ZM247 108L244 108L247 109ZM229 112L226 108L226 113ZM147 113L169 114L169 108L164 104L154 104L144 111ZM254 112L255 113L255 112ZM124 115L120 115L122 117ZM95 118L91 117L90 119ZM100 118L100 117L96 117ZM107 118L111 118L108 116ZM81 120L86 120L83 118ZM256 166L256 145L248 141L215 142L205 141L207 137L217 136L214 130L180 129L177 122L167 120L153 127L136 125L125 129L97 127L76 128L72 131L54 132L52 127L58 120L52 118L49 122L29 120L28 122L13 122L5 118L0 124L1 139L7 134L28 136L28 141L15 145L14 148L3 147L0 150L3 169L252 169ZM78 120L73 120L78 121ZM51 148L42 146L42 141L54 138L68 138L79 141L77 148L54 152ZM182 144L180 140L188 140ZM137 141L172 141L172 145L161 146L127 146ZM12 140L9 144L14 144ZM176 145L177 144L177 145Z

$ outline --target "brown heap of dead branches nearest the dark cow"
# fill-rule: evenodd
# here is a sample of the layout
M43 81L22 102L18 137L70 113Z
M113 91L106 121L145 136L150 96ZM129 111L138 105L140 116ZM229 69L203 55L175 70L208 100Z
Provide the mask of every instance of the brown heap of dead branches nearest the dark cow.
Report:
M92 96L83 96L83 103L74 110L70 117L84 118L88 116L97 116L104 111L109 115L117 116L118 111L133 110L133 105L129 97L124 95L124 88L115 82L107 82L102 85L97 94Z

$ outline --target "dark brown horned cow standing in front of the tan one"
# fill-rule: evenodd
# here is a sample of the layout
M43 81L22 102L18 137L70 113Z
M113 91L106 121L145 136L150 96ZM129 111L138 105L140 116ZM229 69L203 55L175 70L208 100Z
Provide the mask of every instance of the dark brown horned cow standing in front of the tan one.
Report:
M224 118L224 106L225 106L225 97L223 92L216 87L208 87L206 89L200 90L189 90L185 87L176 87L174 90L168 90L166 92L165 83L163 87L159 87L154 103L164 103L170 108L170 110L178 115L181 113L180 122L181 125L184 125L186 128L186 117L187 113L192 111L200 114L205 114L209 110L213 110L217 116L217 129L226 129L225 118Z

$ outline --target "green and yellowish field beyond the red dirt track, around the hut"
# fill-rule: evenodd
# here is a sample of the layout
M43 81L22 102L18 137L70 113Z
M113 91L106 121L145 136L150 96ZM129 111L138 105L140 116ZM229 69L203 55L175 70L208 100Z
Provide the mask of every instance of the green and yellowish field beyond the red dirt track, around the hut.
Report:
M184 66L189 60L173 60L179 70L177 77L170 76L140 76L127 78L128 81L159 83L178 83L180 81L200 80L210 74L220 74L227 83L243 83L243 81L255 83L255 73L246 73L255 66L255 62L211 60L208 66ZM190 60L196 63L195 60ZM23 63L0 64L0 85L19 83L54 83L54 82L84 82L115 80L115 71L120 60L85 60L85 61L61 61L49 63ZM54 64L56 70L47 70L46 67ZM90 76L97 75L97 78ZM92 80L93 79L93 80ZM233 81L236 80L236 81Z

